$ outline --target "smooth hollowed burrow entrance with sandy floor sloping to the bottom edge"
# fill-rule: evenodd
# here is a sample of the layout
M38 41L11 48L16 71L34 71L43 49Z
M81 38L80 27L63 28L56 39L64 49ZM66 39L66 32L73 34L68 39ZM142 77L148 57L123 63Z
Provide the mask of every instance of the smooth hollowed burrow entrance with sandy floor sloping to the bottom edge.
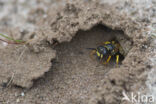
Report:
M50 91L48 96L55 102L74 104L76 101L87 104L86 99L90 98L97 86L102 85L101 80L116 64L114 58L108 66L99 60L92 60L90 50L86 48L96 48L98 43L114 39L117 34L124 36L122 31L113 31L103 25L96 25L88 31L78 31L71 42L54 47L57 57L52 61L52 70L35 85L39 85L42 93Z

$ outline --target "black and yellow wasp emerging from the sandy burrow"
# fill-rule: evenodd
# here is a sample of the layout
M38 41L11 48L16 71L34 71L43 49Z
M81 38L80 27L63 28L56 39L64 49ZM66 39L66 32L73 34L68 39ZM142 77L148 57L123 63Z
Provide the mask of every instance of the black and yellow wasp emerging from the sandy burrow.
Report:
M93 59L93 55L96 55L103 64L109 63L112 56L116 56L116 64L119 64L119 56L122 55L123 49L117 41L106 41L103 42L97 48L87 48L91 49L90 57Z

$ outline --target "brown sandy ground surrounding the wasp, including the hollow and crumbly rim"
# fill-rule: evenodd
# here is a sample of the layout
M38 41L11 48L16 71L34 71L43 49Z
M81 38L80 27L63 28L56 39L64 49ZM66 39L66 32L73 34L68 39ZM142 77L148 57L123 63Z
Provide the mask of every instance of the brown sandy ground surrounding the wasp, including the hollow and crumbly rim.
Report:
M22 23L14 25L16 19L10 24L7 20L5 25L4 21L0 23L3 33L16 33L17 36L13 35L16 39L31 40L25 46L1 47L0 103L131 104L121 100L123 91L155 94L155 59L150 58L155 56L155 20L144 18L146 12L140 12L145 2L103 1L103 5L87 1L59 2L35 1L34 8L27 8L31 12L25 18L21 19L22 9L12 14L19 13ZM10 1L5 3L9 5ZM19 8L34 5L25 3L15 2ZM49 6L50 3L53 6ZM137 3L142 5L136 6ZM154 1L148 5L152 8ZM148 17L152 18L152 13ZM4 17L1 16L1 21ZM19 28L21 24L26 27ZM125 50L121 65L116 67L114 58L104 66L89 57L90 51L86 48L97 47L114 37ZM59 44L53 46L55 41Z

